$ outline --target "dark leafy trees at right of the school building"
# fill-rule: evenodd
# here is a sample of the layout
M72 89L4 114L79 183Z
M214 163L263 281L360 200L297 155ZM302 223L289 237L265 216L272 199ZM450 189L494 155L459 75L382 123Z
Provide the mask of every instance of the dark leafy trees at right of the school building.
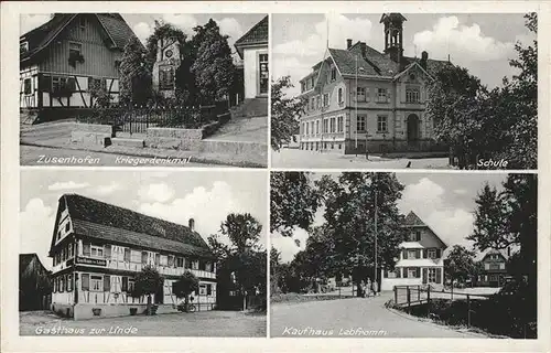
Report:
M527 28L537 33L537 15L526 15ZM504 159L508 168L537 165L538 45L515 49L510 60L519 74L504 78L500 88L488 90L465 68L446 66L429 87L426 114L435 121L436 140L451 147L461 169L475 168L478 159Z

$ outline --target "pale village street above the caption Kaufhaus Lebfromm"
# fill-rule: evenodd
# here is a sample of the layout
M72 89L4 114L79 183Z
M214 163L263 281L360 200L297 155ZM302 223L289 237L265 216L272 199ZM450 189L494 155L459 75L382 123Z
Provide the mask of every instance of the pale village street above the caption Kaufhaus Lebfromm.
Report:
M271 336L335 338L485 338L467 331L423 322L385 308L392 292L375 298L349 298L273 303ZM315 333L317 331L321 333ZM325 334L323 333L325 332Z

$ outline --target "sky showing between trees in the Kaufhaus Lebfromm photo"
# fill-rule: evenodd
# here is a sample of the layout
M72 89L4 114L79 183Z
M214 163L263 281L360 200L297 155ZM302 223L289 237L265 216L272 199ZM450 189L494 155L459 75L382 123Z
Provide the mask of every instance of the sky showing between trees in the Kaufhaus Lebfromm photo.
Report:
M337 176L338 173L329 173ZM312 179L322 174L312 174ZM404 185L398 201L398 210L403 215L413 211L437 236L447 244L472 247L465 237L472 234L475 199L487 182L490 186L503 190L505 173L397 173L397 179ZM322 225L323 208L317 210L314 224ZM271 236L271 246L281 252L282 261L291 261L296 253L306 245L307 233L295 228L293 237ZM295 239L300 240L296 246Z

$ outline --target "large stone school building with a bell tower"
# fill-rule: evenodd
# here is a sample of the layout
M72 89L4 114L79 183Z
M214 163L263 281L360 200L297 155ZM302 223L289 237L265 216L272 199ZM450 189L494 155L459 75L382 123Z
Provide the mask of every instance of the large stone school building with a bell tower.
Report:
M450 61L403 55L406 18L385 13L385 50L347 40L328 47L323 61L300 81L307 100L301 117L300 148L335 153L445 151L425 115L428 83Z

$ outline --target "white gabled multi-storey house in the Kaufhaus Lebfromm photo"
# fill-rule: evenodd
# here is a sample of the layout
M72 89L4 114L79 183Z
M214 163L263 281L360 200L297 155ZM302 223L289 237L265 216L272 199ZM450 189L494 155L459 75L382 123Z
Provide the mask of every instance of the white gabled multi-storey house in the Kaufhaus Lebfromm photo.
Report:
M407 238L399 246L395 270L382 270L381 290L392 290L395 286L442 287L447 245L414 212L406 216L402 226Z

